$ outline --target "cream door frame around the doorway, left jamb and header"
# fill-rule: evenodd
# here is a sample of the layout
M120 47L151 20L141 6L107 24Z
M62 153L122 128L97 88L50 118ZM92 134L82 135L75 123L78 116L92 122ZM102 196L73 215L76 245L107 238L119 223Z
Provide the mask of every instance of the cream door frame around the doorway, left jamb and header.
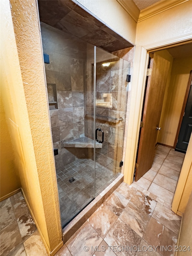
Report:
M191 33L175 38L155 42L150 45L136 46L134 56L134 68L132 76L131 102L129 112L129 124L125 151L124 182L131 185L134 179L135 161L140 131L140 121L143 107L143 97L147 75L149 53L166 50L168 48L192 43ZM138 75L140 74L140 75ZM126 161L127 159L127 161Z

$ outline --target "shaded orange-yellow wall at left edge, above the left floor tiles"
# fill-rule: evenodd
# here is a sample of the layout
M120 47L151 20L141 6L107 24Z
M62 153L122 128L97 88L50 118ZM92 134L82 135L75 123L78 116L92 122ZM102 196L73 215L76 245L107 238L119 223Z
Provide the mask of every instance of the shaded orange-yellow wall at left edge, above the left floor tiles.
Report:
M0 98L0 151L1 151L1 171L0 171L0 197L21 188L18 169L16 166L13 145L8 131L2 99Z

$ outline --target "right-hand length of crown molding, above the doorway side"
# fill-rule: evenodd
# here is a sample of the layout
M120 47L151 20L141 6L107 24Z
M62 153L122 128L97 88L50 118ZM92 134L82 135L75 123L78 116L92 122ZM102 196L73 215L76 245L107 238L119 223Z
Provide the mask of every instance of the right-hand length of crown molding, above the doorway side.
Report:
M189 0L161 0L143 10L140 11L139 19L137 22L146 20L152 16L155 16L161 12L167 11L177 5L181 5Z

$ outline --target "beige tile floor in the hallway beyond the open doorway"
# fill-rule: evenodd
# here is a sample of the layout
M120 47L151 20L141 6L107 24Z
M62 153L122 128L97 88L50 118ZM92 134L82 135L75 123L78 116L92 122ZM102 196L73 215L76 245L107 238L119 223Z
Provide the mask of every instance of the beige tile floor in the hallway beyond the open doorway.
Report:
M152 168L132 186L171 209L184 156L184 153L158 145Z

